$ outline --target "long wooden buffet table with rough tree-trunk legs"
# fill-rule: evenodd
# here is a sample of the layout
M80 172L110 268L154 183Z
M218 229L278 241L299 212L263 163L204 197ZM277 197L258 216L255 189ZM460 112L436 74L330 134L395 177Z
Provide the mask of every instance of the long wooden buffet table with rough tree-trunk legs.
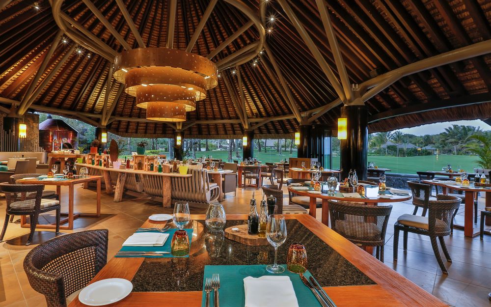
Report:
M120 202L123 199L124 185L126 181L126 174L140 174L140 175L153 175L153 176L161 176L162 177L162 205L164 208L171 207L171 180L170 177L191 177L191 174L180 174L180 173L159 173L156 171L146 171L146 170L135 170L133 168L130 169L119 169L112 167L100 167L91 164L77 164L80 167L92 167L95 169L99 169L103 171L104 175L104 183L106 185L106 192L108 194L112 193L112 182L109 171L118 172L118 179L116 183L116 189L114 190L114 202Z

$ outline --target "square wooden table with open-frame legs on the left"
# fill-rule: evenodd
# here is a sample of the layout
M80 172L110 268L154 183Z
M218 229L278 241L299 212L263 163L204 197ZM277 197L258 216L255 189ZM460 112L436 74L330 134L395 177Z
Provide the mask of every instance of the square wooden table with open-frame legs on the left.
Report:
M67 218L60 221L60 229L70 230L73 229L73 221L79 217L100 217L101 216L101 179L102 176L87 176L86 178L77 178L70 180L61 181L50 181L50 180L38 180L38 179L17 179L17 184L44 184L46 186L56 186L56 194L58 195L58 200L61 204L61 187L68 187L68 213L62 213L61 215L66 215ZM74 213L73 207L73 188L76 184L84 184L86 182L96 181L97 182L97 204L96 213ZM68 226L63 226L62 224L68 223ZM30 227L27 223L26 216L21 216L21 227ZM55 229L55 224L38 224L36 228L48 228Z

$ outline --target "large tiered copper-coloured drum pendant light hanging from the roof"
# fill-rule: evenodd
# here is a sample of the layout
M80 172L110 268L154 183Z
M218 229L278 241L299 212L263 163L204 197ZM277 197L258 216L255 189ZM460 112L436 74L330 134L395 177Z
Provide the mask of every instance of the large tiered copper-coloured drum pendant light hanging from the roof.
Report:
M147 109L147 119L185 121L186 112L217 86L214 62L178 49L137 48L114 59L114 79L126 93L136 97L136 106Z

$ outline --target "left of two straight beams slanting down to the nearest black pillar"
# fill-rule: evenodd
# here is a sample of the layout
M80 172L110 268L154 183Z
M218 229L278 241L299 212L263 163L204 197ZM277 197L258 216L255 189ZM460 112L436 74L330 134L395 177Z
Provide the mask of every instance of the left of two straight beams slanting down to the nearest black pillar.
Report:
M319 51L317 46L312 41L312 38L310 37L310 35L307 33L307 31L305 30L303 25L300 24L299 19L297 18L297 16L293 12L290 5L285 0L278 0L278 2L281 5L281 7L283 8L283 10L285 11L285 13L287 14L290 22L293 24L293 26L300 33L300 36L302 37L303 41L305 42L308 49L310 50L310 52L312 53L312 55L316 59L317 63L319 63L322 71L324 72L324 74L327 77L327 80L329 80L332 87L334 87L334 90L336 91L338 96L341 98L341 100L343 102L347 102L343 87L341 86L338 79L336 78L336 76L332 72L331 68L327 64L326 59L322 56L321 52Z

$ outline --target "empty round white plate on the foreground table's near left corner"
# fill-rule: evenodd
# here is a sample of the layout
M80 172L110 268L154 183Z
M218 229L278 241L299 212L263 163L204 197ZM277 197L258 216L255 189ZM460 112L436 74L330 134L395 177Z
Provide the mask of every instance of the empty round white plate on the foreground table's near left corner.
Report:
M121 301L133 290L131 281L109 278L89 284L79 293L79 300L88 306L104 306Z

